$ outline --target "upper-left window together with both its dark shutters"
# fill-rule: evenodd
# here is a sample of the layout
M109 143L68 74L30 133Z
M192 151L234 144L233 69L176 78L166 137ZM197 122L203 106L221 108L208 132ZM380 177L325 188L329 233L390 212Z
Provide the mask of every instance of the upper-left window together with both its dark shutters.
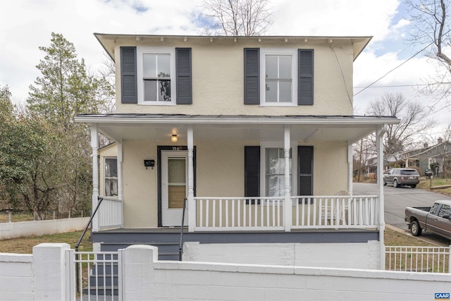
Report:
M191 48L121 47L121 103L192 104Z

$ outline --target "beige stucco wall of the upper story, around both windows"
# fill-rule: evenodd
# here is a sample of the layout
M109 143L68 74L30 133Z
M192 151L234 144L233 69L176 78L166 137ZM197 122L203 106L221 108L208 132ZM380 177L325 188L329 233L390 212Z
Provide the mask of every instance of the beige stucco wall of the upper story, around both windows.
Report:
M208 41L208 40L206 40ZM153 106L121 104L121 77L116 76L117 113L183 113L222 115L352 115L352 44L247 44L237 42L161 44L162 47L192 48L192 104ZM232 44L230 44L232 43ZM120 74L120 46L116 52L116 74ZM131 46L130 44L123 46ZM243 91L244 48L278 47L314 49L314 105L245 105ZM138 79L139 80L139 79ZM297 93L296 91L294 93Z

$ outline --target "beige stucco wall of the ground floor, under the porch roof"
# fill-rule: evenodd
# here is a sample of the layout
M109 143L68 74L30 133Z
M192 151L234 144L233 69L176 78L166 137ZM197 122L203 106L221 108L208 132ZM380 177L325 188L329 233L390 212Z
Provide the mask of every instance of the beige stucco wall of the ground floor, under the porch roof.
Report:
M144 159L157 158L163 142L123 142L125 228L158 226L158 170L146 169ZM244 147L259 142L194 142L196 192L199 197L244 196ZM314 144L314 195L334 195L347 189L345 142Z

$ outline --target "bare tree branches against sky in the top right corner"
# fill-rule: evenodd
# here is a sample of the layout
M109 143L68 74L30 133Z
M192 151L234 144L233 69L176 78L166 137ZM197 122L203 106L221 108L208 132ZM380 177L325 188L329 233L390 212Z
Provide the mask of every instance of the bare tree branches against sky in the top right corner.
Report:
M435 75L426 78L422 94L435 97L435 106L451 104L451 28L447 8L449 0L405 0L414 30L408 42L438 63ZM440 108L443 109L443 108Z

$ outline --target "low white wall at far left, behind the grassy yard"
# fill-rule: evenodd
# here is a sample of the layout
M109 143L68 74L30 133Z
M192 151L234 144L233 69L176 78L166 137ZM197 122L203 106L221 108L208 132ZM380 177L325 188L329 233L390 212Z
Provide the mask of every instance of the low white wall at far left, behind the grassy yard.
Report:
M80 231L85 228L88 221L89 216L74 219L54 219L49 221L0 223L0 240Z

